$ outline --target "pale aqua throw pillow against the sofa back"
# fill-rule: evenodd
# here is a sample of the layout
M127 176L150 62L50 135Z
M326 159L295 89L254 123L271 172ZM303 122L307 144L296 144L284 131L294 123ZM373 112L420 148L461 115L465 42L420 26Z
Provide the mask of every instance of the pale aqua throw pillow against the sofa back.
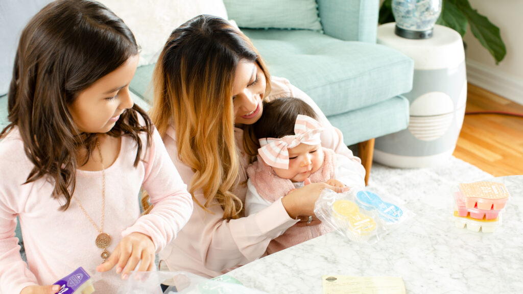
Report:
M321 30L315 0L223 0L240 28Z

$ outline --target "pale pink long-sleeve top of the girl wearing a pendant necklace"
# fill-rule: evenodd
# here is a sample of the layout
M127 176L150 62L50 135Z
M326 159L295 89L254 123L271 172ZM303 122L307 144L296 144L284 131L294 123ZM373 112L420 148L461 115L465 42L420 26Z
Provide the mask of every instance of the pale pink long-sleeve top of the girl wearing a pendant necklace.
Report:
M141 139L145 146L147 139L143 133ZM105 170L104 232L112 238L109 252L132 232L150 236L158 252L176 237L192 212L187 186L156 129L151 141L138 167L134 167L135 142L122 137L116 161ZM79 266L93 275L103 261L102 250L95 245L98 231L74 199L67 210L61 211L65 200L51 197L54 186L51 181L40 178L24 184L32 167L15 128L0 141L0 293L3 294L17 294L35 284L51 285ZM154 209L145 216L140 216L138 198L142 186L154 204ZM77 170L74 195L99 227L102 172ZM20 220L27 264L20 257L15 237L16 216ZM118 282L108 281L108 288L97 288L96 292L113 293L110 285Z

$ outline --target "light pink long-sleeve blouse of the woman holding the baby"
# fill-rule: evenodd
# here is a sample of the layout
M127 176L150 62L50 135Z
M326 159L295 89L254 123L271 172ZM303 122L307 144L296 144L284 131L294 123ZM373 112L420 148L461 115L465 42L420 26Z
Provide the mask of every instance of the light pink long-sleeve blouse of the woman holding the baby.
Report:
M308 95L292 86L285 78L272 77L271 85L269 100L291 96L311 105L318 115L318 121L324 127L321 135L322 145L359 164L358 172L361 178L365 177L365 168L361 165L360 159L344 144L342 133L328 122L323 112ZM243 150L242 129L235 129L235 137L236 145L240 150L241 167L238 182L240 184L233 192L245 202L248 157ZM189 185L194 173L178 158L175 129L170 127L163 139L181 178ZM206 202L201 190L195 193L195 198L200 203ZM224 274L263 256L269 242L297 222L289 217L281 199L251 216L231 221L222 218L223 210L219 205L208 209L212 213L206 212L195 204L187 225L179 232L176 240L160 252L161 263L165 263L170 270L186 270L207 277Z

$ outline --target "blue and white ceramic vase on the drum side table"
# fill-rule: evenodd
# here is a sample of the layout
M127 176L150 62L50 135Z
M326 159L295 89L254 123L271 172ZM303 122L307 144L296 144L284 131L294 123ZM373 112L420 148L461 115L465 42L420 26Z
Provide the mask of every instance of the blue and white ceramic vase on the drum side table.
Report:
M408 39L432 37L442 0L392 0L396 35Z

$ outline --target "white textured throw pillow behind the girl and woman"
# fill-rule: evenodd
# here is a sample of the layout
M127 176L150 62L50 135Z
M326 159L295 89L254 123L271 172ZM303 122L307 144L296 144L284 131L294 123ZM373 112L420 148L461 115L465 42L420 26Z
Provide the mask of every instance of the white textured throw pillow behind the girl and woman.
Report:
M228 19L222 0L100 0L131 29L141 47L138 65L155 63L170 33L187 20L210 14Z

